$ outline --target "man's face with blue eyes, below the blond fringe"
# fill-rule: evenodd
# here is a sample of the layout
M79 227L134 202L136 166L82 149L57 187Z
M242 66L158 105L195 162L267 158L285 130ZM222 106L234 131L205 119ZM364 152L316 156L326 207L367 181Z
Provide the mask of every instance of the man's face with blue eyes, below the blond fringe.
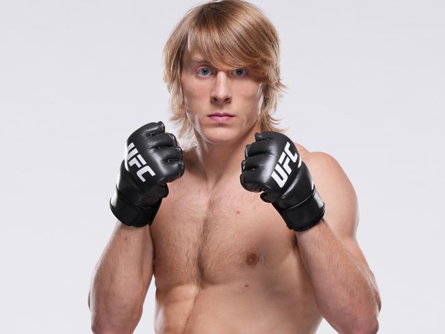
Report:
M182 61L186 114L196 138L212 144L236 142L258 119L262 83L245 68L214 68L199 51L186 52ZM212 116L215 114L230 116Z

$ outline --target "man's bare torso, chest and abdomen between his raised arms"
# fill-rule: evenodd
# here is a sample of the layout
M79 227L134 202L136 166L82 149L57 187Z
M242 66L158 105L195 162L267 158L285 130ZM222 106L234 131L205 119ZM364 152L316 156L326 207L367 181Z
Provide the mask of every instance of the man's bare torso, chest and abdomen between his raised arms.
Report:
M239 175L208 192L186 170L168 188L150 227L156 333L316 332L296 237L270 203Z

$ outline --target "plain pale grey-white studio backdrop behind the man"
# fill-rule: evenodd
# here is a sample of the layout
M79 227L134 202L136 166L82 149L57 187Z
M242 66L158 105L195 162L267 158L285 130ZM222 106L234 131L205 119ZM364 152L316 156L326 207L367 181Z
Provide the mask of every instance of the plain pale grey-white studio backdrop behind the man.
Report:
M342 165L380 333L444 307L443 1L252 1L279 31L288 135ZM129 133L163 120L162 48L195 1L0 2L0 332L88 333ZM153 332L154 280L136 333ZM335 333L323 321L318 333Z

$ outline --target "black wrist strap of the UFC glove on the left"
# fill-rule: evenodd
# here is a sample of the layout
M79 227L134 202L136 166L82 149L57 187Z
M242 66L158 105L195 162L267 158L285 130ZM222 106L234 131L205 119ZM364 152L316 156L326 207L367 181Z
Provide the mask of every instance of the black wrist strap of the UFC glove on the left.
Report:
M152 207L138 207L128 201L116 187L112 198L110 198L110 208L114 216L123 224L133 227L143 227L153 223L157 210L161 206L161 202L162 198Z

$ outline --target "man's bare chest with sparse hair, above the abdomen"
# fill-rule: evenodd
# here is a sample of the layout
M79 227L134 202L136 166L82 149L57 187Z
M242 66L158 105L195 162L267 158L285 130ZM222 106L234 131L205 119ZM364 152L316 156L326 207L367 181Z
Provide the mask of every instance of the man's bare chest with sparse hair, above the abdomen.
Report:
M298 266L295 236L259 194L236 182L209 194L170 186L151 225L158 288L268 279Z

